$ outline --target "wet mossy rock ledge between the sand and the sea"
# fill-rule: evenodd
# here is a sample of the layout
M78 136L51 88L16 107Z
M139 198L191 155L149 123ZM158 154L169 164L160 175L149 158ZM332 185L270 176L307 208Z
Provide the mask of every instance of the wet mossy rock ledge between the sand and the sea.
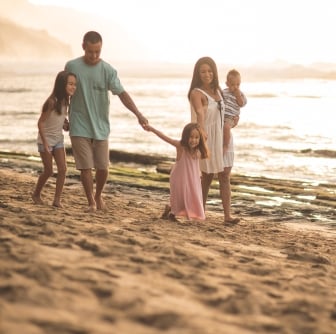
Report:
M67 150L67 179L78 179L71 150ZM155 189L169 193L169 171L173 160L161 155L111 151L108 184ZM18 170L41 169L38 156L0 152L0 166ZM304 220L329 228L336 227L336 185L293 180L276 180L233 173L233 211L241 216L269 216L274 221ZM221 211L218 183L213 182L207 209Z

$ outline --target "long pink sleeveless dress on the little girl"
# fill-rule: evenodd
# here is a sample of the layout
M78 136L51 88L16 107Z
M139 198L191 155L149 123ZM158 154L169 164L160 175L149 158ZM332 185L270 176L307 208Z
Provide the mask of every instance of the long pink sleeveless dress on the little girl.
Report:
M186 150L170 172L170 206L175 216L205 219L199 158Z

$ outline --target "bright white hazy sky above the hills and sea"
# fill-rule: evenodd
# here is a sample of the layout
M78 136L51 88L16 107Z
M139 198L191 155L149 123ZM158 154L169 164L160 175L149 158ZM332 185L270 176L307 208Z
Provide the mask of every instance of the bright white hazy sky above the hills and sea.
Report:
M30 2L72 7L108 18L147 51L148 59L194 62L209 55L236 64L336 62L334 0Z

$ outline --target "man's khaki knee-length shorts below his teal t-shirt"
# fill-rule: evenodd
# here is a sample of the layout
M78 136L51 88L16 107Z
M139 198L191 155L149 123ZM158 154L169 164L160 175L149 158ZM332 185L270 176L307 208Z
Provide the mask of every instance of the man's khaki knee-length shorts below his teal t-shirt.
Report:
M110 163L108 140L77 136L70 138L77 169L108 169Z

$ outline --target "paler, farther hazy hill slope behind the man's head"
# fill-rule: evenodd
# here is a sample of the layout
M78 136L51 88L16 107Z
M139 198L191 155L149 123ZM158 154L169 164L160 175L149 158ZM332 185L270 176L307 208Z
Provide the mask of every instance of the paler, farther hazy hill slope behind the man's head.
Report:
M93 5L95 5L94 2ZM112 12L112 18L113 15L117 13ZM113 19L81 11L80 5L75 10L55 5L36 5L28 0L0 0L0 17L20 27L40 32L46 31L58 41L69 44L74 57L83 54L84 33L96 30L103 36L102 57L104 59L115 62L146 58L146 50L137 42L136 36L130 36L113 22ZM2 43L1 37L0 43Z

